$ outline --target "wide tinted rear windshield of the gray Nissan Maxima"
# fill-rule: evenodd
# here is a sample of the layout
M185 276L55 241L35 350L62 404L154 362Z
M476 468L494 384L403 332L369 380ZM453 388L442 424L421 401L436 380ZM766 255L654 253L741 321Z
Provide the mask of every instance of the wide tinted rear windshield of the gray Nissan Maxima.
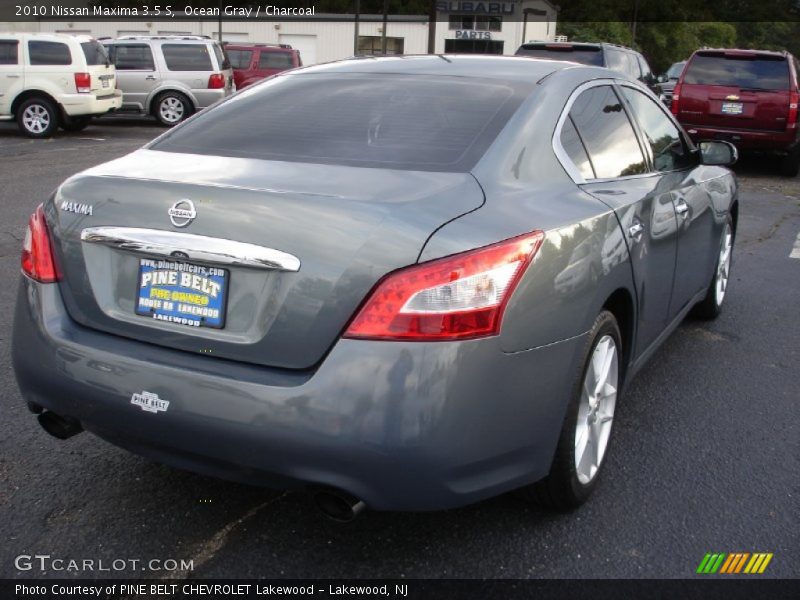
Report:
M463 172L531 89L465 77L283 76L188 121L151 149Z

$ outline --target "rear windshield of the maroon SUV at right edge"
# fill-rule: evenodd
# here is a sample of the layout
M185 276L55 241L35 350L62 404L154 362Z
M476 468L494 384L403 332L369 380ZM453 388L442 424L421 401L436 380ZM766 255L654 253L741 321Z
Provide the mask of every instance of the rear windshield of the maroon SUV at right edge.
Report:
M683 82L755 90L788 90L789 65L782 56L697 54L689 63Z

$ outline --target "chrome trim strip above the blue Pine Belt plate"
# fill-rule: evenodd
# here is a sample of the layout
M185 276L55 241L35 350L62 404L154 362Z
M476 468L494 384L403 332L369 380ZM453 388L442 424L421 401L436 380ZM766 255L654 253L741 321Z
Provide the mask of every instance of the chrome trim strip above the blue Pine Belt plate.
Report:
M286 252L192 233L137 227L87 227L81 232L81 241L177 260L277 271L300 270L300 259Z

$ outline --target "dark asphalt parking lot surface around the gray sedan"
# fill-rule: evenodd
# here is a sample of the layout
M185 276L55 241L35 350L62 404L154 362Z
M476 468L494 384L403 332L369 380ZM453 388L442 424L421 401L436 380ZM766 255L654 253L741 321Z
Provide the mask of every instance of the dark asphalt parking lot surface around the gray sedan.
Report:
M28 215L66 177L162 131L115 117L31 141L0 124L0 577L82 576L15 567L48 554L194 561L192 572L94 574L127 577L679 578L707 552L772 552L767 576L797 576L800 178L769 160L737 166L724 313L686 321L629 388L587 505L551 514L512 493L342 525L302 493L178 471L91 435L55 440L20 398L10 344Z

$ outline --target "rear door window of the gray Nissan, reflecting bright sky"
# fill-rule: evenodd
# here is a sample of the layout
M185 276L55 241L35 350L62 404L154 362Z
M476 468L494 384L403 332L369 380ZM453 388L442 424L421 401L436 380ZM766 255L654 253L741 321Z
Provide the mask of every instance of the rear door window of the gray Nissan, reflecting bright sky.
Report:
M607 85L582 92L569 111L599 179L646 172L633 126L614 90Z

